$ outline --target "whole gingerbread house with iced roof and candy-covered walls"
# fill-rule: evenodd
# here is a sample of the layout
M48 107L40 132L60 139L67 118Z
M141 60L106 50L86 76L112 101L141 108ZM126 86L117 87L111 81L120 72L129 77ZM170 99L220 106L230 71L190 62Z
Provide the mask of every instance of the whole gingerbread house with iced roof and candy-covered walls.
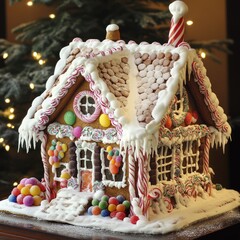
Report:
M211 194L209 150L231 128L182 21L173 18L164 45L125 43L112 24L107 39L61 50L19 128L20 145L42 142L49 201L60 188L104 189L147 215Z

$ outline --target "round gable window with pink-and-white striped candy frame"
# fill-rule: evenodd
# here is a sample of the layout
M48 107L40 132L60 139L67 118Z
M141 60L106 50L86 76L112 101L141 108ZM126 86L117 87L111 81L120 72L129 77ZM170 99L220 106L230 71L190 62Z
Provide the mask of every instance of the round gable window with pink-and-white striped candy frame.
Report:
M91 91L82 91L74 98L73 110L83 122L92 123L99 117L101 107Z

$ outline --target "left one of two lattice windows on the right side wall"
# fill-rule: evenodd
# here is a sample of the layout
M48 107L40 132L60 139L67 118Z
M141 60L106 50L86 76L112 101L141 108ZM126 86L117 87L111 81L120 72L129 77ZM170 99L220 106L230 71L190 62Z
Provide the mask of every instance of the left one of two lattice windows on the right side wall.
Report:
M172 150L167 146L158 148L156 158L157 162L157 182L168 181L171 179L172 163L173 163Z

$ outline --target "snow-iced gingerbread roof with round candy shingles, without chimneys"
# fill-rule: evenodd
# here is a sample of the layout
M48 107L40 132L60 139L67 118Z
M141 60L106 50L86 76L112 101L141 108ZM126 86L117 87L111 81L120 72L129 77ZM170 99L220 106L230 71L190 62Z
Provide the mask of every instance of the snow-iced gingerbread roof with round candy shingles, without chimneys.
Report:
M19 143L25 142L27 149L32 140L35 144L62 99L84 78L123 144L131 142L137 147L139 139L143 139L141 145L145 149L149 144L154 147L173 97L179 86L190 81L192 73L195 77L191 81L203 96L210 123L221 135L218 140L225 142L231 132L227 117L211 90L202 61L187 44L173 47L156 42L136 44L96 39L83 42L75 38L60 51L60 60L46 90L33 101L23 119ZM79 75L83 78L78 78Z

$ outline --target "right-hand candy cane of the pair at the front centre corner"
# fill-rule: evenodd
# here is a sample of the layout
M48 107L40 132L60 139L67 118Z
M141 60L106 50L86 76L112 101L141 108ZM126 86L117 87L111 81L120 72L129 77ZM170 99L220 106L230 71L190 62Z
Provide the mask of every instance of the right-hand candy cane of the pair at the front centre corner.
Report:
M148 158L147 155L143 153L142 150L139 151L138 157L138 180L137 180L137 190L139 195L139 207L142 210L142 214L147 214L148 201Z

